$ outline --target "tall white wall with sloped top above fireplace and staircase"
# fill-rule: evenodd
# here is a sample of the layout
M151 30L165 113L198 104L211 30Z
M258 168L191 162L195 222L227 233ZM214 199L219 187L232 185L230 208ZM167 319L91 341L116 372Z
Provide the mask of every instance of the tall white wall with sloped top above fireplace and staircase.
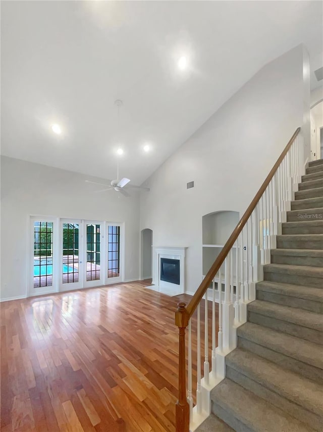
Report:
M153 230L153 245L188 247L189 292L202 277L202 215L242 215L295 129L304 117L309 121L303 57L298 46L262 68L151 176L150 192L141 195L140 224ZM195 187L187 190L192 180Z

